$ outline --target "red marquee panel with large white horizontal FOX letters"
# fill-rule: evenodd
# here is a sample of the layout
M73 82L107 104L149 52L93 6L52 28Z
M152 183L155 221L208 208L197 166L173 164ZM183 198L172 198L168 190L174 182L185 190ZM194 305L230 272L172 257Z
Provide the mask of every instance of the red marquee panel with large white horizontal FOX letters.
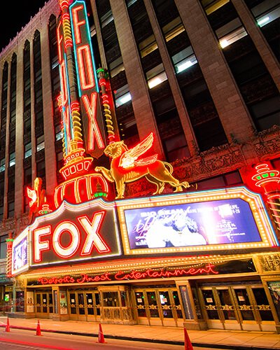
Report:
M29 226L31 265L120 255L115 209L110 204L63 203Z

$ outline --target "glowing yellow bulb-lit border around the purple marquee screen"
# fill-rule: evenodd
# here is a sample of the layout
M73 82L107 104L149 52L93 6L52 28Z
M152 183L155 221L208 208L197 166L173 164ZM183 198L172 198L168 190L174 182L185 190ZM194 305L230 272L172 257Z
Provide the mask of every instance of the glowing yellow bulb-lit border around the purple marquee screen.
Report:
M131 249L130 241L125 223L125 210L141 209L151 207L162 207L163 205L199 203L214 200L229 200L240 198L246 201L251 208L253 218L258 227L262 241L250 243L235 244L209 244L207 246L184 246L168 248L144 248ZM118 218L120 223L120 232L123 239L125 255L143 255L143 254L161 254L161 253L179 253L179 252L205 252L221 250L237 250L244 248L265 248L277 246L278 242L269 221L265 204L260 195L253 193L245 187L225 188L223 190L208 190L195 193L180 193L171 195L161 195L155 197L137 198L131 200L121 200L116 202L118 209Z

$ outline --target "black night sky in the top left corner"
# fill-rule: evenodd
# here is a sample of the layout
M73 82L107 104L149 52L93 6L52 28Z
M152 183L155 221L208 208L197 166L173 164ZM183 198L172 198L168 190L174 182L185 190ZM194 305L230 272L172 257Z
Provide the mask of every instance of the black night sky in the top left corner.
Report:
M30 21L47 0L5 0L1 1L0 52Z

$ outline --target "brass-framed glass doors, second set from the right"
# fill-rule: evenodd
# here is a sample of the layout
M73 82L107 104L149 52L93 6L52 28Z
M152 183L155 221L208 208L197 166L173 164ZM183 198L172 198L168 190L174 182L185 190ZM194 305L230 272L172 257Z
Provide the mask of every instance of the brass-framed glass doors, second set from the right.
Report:
M137 323L183 326L183 309L176 288L134 290Z

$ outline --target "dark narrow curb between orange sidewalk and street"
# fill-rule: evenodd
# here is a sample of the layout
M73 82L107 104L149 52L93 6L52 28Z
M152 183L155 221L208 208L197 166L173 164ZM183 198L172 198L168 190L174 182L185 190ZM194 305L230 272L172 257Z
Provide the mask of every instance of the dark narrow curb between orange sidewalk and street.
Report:
M5 328L6 325L0 325L0 328ZM20 329L20 330L32 330L36 331L36 328L23 327L21 325L10 325L10 328ZM75 332L70 330L50 330L41 329L41 332L57 333L57 334L69 334L69 335L80 335L83 337L98 337L98 333L86 333L86 332ZM137 338L137 337L125 337L123 335L104 335L106 339L120 339L120 340L130 340L134 342L148 342L148 343L158 343L158 344L170 344L170 345L184 345L183 341L176 340L163 340L163 339L148 339L148 338ZM272 350L272 348L262 347L262 346L244 346L244 345L227 345L227 344L211 344L211 343L196 343L192 342L193 346L196 347L209 347L210 349L228 349L228 350Z

